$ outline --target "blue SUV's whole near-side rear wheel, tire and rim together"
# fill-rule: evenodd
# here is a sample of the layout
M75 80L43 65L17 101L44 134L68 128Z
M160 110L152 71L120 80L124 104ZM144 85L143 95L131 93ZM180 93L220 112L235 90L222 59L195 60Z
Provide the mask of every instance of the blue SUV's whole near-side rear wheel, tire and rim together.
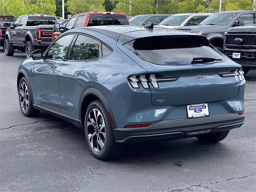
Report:
M91 102L86 110L84 131L94 157L103 160L120 154L122 147L115 142L106 108L99 100Z

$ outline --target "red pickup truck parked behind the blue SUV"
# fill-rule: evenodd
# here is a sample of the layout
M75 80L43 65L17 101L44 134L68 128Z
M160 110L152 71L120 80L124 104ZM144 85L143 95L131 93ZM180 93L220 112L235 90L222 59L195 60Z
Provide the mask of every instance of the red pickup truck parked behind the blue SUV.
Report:
M70 18L64 27L64 32L72 28L102 26L102 25L130 25L124 13L118 12L86 12L79 13ZM54 41L61 32L56 31L52 34Z

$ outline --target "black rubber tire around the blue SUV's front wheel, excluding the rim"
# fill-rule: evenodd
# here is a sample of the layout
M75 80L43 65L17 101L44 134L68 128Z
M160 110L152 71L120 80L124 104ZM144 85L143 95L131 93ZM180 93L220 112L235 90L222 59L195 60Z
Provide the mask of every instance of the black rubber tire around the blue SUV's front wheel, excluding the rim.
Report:
M26 84L27 88L24 87L24 84ZM21 89L22 89L22 84L23 84L23 89L26 90L27 89L27 92L28 92L28 96L26 96L26 100L28 100L28 106L26 106L26 110L24 109L24 106L22 107L22 97L21 97ZM20 83L19 83L19 88L18 88L18 96L19 96L19 103L20 103L20 110L21 112L24 114L24 116L27 116L27 117L35 117L35 116L38 116L38 114L40 113L40 110L36 110L34 107L33 107L33 103L32 103L32 98L31 98L31 94L32 92L30 92L30 85L28 84L27 80L25 77L22 77L21 80L20 80ZM24 91L23 93L25 93L26 91ZM26 94L25 94L26 95ZM26 102L25 102L26 103Z

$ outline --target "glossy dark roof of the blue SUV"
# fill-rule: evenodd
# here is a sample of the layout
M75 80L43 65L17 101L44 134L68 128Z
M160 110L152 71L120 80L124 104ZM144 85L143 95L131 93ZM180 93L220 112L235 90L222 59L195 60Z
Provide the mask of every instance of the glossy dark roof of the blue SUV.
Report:
M115 41L125 44L137 38L149 36L166 36L166 35L197 35L181 30L171 30L164 28L154 28L153 30L144 28L144 26L129 26L129 25L108 25L108 26L91 26L85 28L76 28L69 30L70 32L83 32L84 30L92 30L102 33Z

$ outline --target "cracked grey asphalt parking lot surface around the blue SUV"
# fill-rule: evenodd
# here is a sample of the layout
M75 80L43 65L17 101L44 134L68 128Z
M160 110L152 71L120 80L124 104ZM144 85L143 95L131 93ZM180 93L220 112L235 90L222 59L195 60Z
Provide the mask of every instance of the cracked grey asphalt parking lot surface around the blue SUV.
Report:
M217 144L196 138L124 147L97 160L84 132L41 112L22 115L16 76L25 58L0 52L0 191L255 192L256 76L246 75L245 123Z

